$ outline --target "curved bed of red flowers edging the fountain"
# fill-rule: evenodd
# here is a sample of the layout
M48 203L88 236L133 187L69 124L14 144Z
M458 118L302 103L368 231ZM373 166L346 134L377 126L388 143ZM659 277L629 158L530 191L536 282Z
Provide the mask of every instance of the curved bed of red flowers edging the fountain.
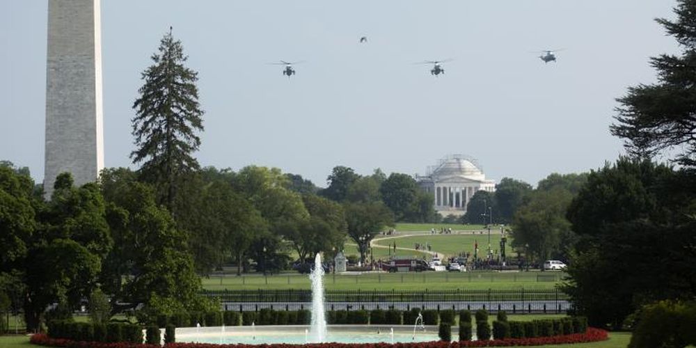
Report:
M505 347L505 346L539 346L563 345L569 343L585 343L603 341L609 338L607 331L587 328L586 333L558 335L537 338L506 338L505 340L461 341L461 342L418 342L418 343L312 343L307 345L212 345L207 343L170 343L168 348L445 348L445 347ZM155 348L159 345L138 345L134 343L102 343L102 342L73 342L71 340L49 338L45 334L31 336L31 343L51 347L69 348Z

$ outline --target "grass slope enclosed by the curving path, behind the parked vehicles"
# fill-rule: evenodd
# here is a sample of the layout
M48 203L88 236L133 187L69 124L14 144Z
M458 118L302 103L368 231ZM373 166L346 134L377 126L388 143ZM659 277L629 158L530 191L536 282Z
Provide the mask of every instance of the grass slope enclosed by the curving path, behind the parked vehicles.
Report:
M444 255L458 255L459 253L464 253L468 252L473 255L474 253L474 244L475 242L478 242L478 248L479 248L479 257L483 258L486 255L486 251L488 249L488 231L484 233L480 232L466 232L466 234L452 234L452 235L418 235L418 236L409 236L409 237L378 237L377 239L374 239L372 242L373 244L377 244L380 246L389 246L390 244L393 245L393 243L396 242L397 248L403 247L403 248L413 248L416 243L418 244L430 244L431 245L431 250L436 251L437 253L441 253ZM507 245L505 246L505 250L507 252L508 257L511 257L513 255L512 248L510 247L511 239L507 239ZM491 230L491 248L495 251L500 249L500 230L494 231ZM377 248L372 248L373 251ZM387 249L384 249L385 251ZM397 251L398 253L399 251ZM375 255L377 255L377 251L375 251Z

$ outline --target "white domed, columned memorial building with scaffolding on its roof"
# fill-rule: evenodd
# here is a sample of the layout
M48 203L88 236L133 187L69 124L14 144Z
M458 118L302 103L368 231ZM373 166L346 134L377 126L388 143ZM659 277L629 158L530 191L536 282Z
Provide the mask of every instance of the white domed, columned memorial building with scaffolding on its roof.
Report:
M416 181L434 196L435 210L447 215L463 215L476 191L496 191L495 180L486 179L477 161L464 155L451 155L427 168Z

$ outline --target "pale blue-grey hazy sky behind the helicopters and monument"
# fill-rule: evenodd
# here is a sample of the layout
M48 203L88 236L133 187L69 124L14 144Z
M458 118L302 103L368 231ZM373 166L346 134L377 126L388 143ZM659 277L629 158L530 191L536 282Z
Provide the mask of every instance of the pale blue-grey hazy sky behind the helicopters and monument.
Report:
M672 0L102 0L107 167L134 166L132 104L173 26L198 71L202 166L420 173L449 154L536 184L624 153L616 97L676 53ZM0 0L0 159L43 178L46 0ZM367 44L358 44L367 35ZM558 52L544 64L530 53ZM433 77L423 60L454 58ZM307 61L291 79L278 60Z

